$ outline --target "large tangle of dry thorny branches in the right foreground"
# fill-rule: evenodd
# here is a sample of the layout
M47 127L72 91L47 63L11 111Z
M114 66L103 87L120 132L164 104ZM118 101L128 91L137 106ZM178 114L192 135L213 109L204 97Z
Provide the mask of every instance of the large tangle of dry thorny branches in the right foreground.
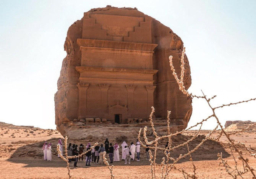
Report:
M219 160L222 161L222 164L224 165L226 171L228 174L230 174L233 178L237 178L237 176L240 176L241 178L243 178L243 174L247 173L247 172L251 172L252 176L254 179L256 179L256 176L255 176L255 173L254 173L254 169L250 167L249 163L248 163L248 158L244 158L243 157L243 153L241 150L238 150L238 148L236 147L234 141L232 139L230 139L230 135L233 135L233 134L236 134L238 132L242 132L242 131L245 131L246 129L250 128L251 126L255 125L255 124L252 124L250 126L248 126L246 129L242 129L240 131L235 131L233 133L229 133L227 134L227 132L224 131L220 121L219 121L219 118L216 116L215 114L215 110L218 109L218 108L222 108L224 106L230 106L230 105L236 105L236 104L239 104L239 103L244 103L244 102L249 102L249 101L252 101L252 100L255 100L256 98L252 98L250 100L246 100L246 101L241 101L241 102L236 102L236 103L230 103L230 104L227 104L227 105L222 105L222 106L217 106L217 107L212 107L210 101L215 98L216 96L213 96L212 98L206 98L206 95L204 95L203 91L203 95L202 96L196 96L196 95L192 95L190 94L185 86L184 86L184 83L183 83L183 79L184 79L184 71L185 71L185 68L184 68L184 55L185 55L185 47L183 48L183 52L182 52L182 55L181 55L181 76L180 76L180 79L178 78L178 75L177 73L175 73L175 69L173 67L173 63L172 63L172 56L169 57L169 60L170 60L170 67L173 71L173 76L175 77L175 80L177 81L177 84L179 86L179 89L181 90L181 92L183 92L183 94L187 95L188 97L191 97L191 98L202 98L202 99L205 99L207 104L209 105L209 107L211 108L212 110L212 114L206 118L206 119L203 119L201 122L197 123L196 125L194 126L191 126L190 128L188 129L185 129L183 131L180 131L180 132L176 132L175 134L170 134L170 127L169 127L169 124L170 124L170 119L169 119L169 116L170 116L170 111L167 111L167 131L168 131L168 135L164 135L164 136L158 136L157 135L157 132L154 128L154 123L153 123L153 120L152 120L152 115L154 113L154 108L152 107L152 112L151 112L151 115L150 115L150 123L151 123L151 128L152 128L152 131L153 131L153 134L155 135L155 139L152 140L151 142L148 141L147 139L147 136L146 136L146 131L147 131L147 127L144 127L144 132L143 132L143 137L144 137L144 140L145 140L145 143L147 145L153 145L154 147L149 147L150 148L150 152L149 152L149 155L150 155L150 161L151 161L151 177L152 179L156 179L156 166L161 166L161 169L162 169L162 176L161 176L161 179L165 179L166 176L169 174L170 170L171 169L175 169L175 170L178 170L180 171L182 174L183 174L183 177L185 179L188 179L188 178L192 178L192 179L196 179L197 176L196 176L196 166L195 164L193 163L193 159L191 157L191 153L193 153L195 150L197 150L202 144L203 142L205 142L207 139L213 139L211 138L211 134L217 129L217 127L220 127L220 133L219 135L217 136L217 138L215 138L214 140L219 140L220 137L222 135L225 135L225 137L228 139L229 141L229 147L230 147L230 152L232 154L232 157L233 157L233 160L235 161L235 170L236 171L236 174L232 174L234 171L229 171L229 168L230 166L227 164L227 161L224 161L222 159L222 154L218 154L219 156ZM180 155L178 158L172 158L170 156L170 152L175 149L175 148L178 148L178 147L181 147L181 146L184 146L184 145L187 145L188 147L188 143L191 142L193 139L196 138L197 134L199 133L199 131L201 130L201 127L202 127L202 124L204 121L207 121L207 119L209 118L215 118L216 119L216 122L217 122L217 126L211 131L209 132L209 134L206 135L205 139L203 139L201 141L200 144L198 144L193 150L189 150L188 148L188 153L184 154L184 155ZM196 134L188 141L184 142L183 144L180 144L180 145L177 145L175 147L172 147L172 139L171 137L174 136L174 135L178 135L178 134L182 134L184 131L187 131L195 126L198 126L199 124L200 127L199 127L199 130L196 132ZM141 142L140 140L140 134L141 134L141 130L139 131L139 135L138 135L138 139L139 141ZM169 144L168 144L168 147L166 148L161 148L161 147L158 147L158 141L160 139L164 139L164 138L168 138L168 141L169 141ZM243 148L245 148L245 150L247 150L251 156L254 156L256 157L256 152L253 148L250 147L246 147L245 144L242 144L241 142L238 142L240 145L243 146ZM146 145L144 145L142 142L141 142L142 146L143 147L146 147ZM233 150L235 152L237 152L238 154L238 159L242 161L243 163L243 171L240 171L238 169L238 166L237 166L237 161L235 160L235 156L234 156L234 153L232 151L232 148L234 148ZM151 150L154 150L154 156L152 155L152 152ZM156 163L156 155L157 155L157 150L164 150L164 153L165 153L165 156L166 156L166 161L165 161L165 158L163 158L162 162L160 164L157 164ZM193 165L193 169L194 169L194 173L193 174L188 174L184 169L178 169L175 164L181 159L181 158L185 158L186 156L190 156L190 161L192 162L192 165ZM172 161L172 163L169 163L169 161Z

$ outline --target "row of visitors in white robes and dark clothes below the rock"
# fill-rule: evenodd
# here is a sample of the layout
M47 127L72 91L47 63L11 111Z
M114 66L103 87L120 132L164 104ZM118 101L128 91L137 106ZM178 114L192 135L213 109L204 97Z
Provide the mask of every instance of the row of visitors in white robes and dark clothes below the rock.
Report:
M47 145L47 142L45 142L44 146L43 146L43 151L44 151L44 160L48 160L48 153L50 153L49 158L50 160L52 159L52 154L51 154L51 143L49 145ZM60 151L62 153L62 141L61 139L58 140L58 145L60 145ZM92 148L91 150L91 143L88 143L86 148L84 147L83 144L80 144L80 146L78 147L78 145L76 144L69 144L68 145L68 156L78 156L81 155L82 153L84 153L84 150L88 151L85 155L86 155L86 166L91 166L91 162L92 163L96 163L96 164L103 164L103 153L106 152L107 154L109 154L109 159L110 159L110 163L113 163L113 161L120 161L120 157L119 157L119 145L117 143L115 143L115 145L112 145L112 143L109 142L108 139L105 140L104 145L96 145L94 148ZM49 146L49 147L48 147ZM137 161L140 161L140 147L141 144L140 142L136 141L135 145L133 142L131 142L131 145L128 146L128 144L123 141L122 145L122 160L125 161L125 164L130 164L130 160L135 161L135 153L137 154ZM147 145L148 147L148 145ZM45 152L46 150L46 152ZM48 152L49 151L49 152ZM146 148L146 156L147 159L149 160L149 148ZM60 155L58 155L58 157L60 157ZM79 156L79 157L75 157L74 159L68 159L69 162L74 161L74 167L78 167L77 163L78 160L82 160L83 161L83 155Z

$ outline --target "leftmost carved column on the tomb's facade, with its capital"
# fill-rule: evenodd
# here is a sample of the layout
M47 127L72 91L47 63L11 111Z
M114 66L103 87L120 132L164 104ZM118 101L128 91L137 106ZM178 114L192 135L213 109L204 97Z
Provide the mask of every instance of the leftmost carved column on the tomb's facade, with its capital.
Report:
M78 108L78 119L83 119L86 117L87 111L87 89L89 83L78 83L77 87L79 90L79 108Z

